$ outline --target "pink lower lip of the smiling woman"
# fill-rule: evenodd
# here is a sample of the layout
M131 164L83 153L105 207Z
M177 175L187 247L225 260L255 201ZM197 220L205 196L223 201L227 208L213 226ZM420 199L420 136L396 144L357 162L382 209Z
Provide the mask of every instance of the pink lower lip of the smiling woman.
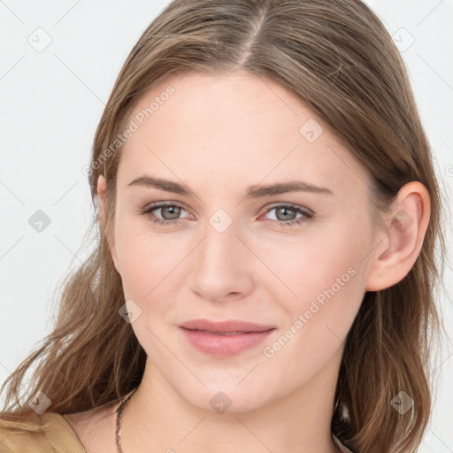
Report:
M248 334L210 334L199 330L189 330L180 327L188 342L199 351L216 357L231 357L240 352L256 347L274 329L265 332L250 332Z

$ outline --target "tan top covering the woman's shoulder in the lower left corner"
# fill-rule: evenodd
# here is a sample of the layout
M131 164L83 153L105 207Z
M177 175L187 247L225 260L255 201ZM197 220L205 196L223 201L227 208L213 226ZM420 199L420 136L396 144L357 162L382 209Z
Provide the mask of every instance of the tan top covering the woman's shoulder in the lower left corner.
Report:
M31 451L86 453L72 426L57 412L0 414L0 453Z

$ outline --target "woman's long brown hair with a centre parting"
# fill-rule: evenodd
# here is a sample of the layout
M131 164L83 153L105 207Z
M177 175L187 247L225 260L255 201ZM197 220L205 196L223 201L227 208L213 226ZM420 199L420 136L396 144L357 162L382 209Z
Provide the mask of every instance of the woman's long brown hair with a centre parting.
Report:
M19 392L31 365L28 395L41 390L48 410L59 413L117 401L140 384L146 354L119 316L125 299L105 234L121 148L107 150L142 94L166 75L239 69L278 82L332 127L372 176L375 219L405 183L418 180L429 192L431 218L410 273L365 293L346 340L332 419L334 434L360 453L414 451L431 406L427 362L439 327L443 202L403 60L358 0L175 0L146 28L96 130L89 174L96 250L67 276L53 332L4 382L4 414L30 411ZM108 182L105 224L96 198L100 174ZM390 403L400 391L415 402L404 415Z

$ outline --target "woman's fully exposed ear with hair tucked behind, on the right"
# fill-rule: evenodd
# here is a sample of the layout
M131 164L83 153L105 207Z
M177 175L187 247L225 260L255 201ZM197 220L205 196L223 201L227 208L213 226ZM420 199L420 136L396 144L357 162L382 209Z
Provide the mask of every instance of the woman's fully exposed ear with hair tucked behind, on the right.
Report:
M423 245L430 214L429 193L421 182L411 181L400 189L385 221L385 234L373 250L366 291L390 288L411 271Z

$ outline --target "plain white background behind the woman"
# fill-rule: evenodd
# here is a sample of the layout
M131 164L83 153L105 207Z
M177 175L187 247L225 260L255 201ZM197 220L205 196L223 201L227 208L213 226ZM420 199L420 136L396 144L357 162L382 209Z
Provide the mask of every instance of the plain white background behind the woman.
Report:
M121 65L168 3L0 0L0 383L50 333L58 281L87 254L81 246L92 207L82 169ZM399 41L451 200L453 2L368 4ZM41 43L51 39L46 49L36 51L29 43L37 41L36 34ZM37 210L50 218L41 233L28 223ZM448 238L451 249L450 231ZM448 291L441 298L447 326L452 320L451 267L450 260ZM443 345L436 365L434 417L422 453L453 452L452 350L450 343Z

